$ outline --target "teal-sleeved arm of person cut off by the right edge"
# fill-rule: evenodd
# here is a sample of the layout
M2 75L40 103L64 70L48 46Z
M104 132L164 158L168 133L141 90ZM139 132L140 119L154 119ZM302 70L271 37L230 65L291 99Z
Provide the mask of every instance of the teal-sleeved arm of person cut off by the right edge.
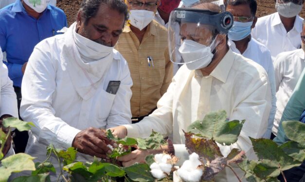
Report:
M277 136L273 139L278 145L281 145L289 139L285 135L284 128L282 125L283 121L299 121L301 114L305 109L305 69L303 70L297 85L284 109Z

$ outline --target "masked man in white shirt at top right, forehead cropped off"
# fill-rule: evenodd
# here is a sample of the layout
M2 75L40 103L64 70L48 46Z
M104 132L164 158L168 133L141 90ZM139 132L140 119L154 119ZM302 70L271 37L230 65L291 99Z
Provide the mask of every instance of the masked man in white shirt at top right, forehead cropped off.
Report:
M269 48L272 61L281 52L301 48L303 0L274 0L276 13L260 17L251 34Z

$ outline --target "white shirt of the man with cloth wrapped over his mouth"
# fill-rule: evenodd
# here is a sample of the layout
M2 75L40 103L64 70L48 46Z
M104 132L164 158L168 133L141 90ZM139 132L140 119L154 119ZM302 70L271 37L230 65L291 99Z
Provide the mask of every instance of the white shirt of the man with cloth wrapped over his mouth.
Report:
M26 153L40 162L46 157L46 146L67 149L81 130L131 123L132 79L126 60L113 49L108 71L97 77L103 60L75 61L80 55L68 46L69 41L75 44L71 29L36 45L22 80L20 115L36 125L29 132ZM121 81L117 93L108 93L109 81L117 80ZM77 160L93 161L93 157L79 153Z

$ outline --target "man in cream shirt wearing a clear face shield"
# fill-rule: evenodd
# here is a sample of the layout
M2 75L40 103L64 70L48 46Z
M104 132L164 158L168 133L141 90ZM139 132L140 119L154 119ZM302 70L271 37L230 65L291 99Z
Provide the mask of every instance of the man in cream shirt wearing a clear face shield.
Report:
M229 49L226 34L232 27L233 15L223 12L217 4L200 2L192 8L177 8L171 13L171 61L177 63L176 60L181 58L176 55L180 55L183 62L178 63L183 65L152 114L140 123L112 130L120 137L147 137L154 130L164 137L172 136L174 145L169 142L159 151L133 151L118 158L123 165L144 162L147 154L160 153L164 149L179 157L182 164L188 157L182 130L186 130L192 121L201 120L207 113L219 109L226 110L230 121L246 120L235 144L219 146L223 155L239 148L249 158L255 158L249 136L260 138L267 130L271 108L268 76L257 63ZM175 39L175 26L179 27L179 42ZM239 176L242 175L239 171ZM216 181L233 182L236 177L226 170Z

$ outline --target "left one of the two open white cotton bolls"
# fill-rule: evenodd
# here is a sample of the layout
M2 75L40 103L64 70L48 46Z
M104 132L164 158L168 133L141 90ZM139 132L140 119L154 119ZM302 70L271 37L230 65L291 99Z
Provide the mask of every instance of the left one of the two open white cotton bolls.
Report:
M174 164L178 162L177 157L172 157L167 153L156 154L153 159L155 162L150 165L150 172L158 180L169 176Z

